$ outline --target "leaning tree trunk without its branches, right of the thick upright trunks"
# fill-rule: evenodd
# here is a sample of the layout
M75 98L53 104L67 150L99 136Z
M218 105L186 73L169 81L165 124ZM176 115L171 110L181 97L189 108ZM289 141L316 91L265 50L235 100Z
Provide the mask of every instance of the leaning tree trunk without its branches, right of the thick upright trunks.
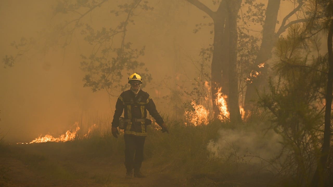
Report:
M280 0L268 0L267 9L266 9L266 18L263 25L262 31L262 43L255 60L256 66L264 63L271 57L271 52L274 47L274 44L277 40L275 36L275 26L277 22L277 14L280 7ZM262 85L262 83L267 79L267 64L264 68L258 68L254 71L261 71L261 75L257 79L253 80L253 83L249 83L246 87L246 94L244 100L244 110L251 110L253 107L253 102L257 97L256 89Z

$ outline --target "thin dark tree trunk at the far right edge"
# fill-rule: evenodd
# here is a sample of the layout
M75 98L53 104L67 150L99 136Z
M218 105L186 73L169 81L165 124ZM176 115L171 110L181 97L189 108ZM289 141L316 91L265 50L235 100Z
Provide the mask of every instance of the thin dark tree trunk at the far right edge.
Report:
M328 49L328 77L327 77L327 91L326 91L326 106L325 106L325 126L324 126L324 141L322 145L320 161L317 169L312 178L311 186L324 186L325 176L324 170L327 162L327 157L330 149L331 139L331 109L332 109L332 85L333 85L333 49L332 49L332 36L333 36L333 20L330 22L327 49Z

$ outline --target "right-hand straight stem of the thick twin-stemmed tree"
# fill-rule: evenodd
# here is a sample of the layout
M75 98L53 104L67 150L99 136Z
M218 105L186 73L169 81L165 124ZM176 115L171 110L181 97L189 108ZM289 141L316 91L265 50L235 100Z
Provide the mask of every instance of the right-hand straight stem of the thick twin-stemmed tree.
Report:
M238 106L238 78L237 78L237 15L240 9L241 0L228 0L228 21L229 21L229 103L230 122L241 122Z

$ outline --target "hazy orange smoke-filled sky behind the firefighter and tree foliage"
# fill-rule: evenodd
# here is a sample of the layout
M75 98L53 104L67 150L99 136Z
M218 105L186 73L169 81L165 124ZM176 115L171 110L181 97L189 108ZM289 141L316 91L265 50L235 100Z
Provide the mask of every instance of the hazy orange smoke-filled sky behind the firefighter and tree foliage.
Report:
M110 10L118 2L121 1L107 2L82 22L96 29L117 25L122 17L113 16ZM217 9L211 0L201 2L212 10ZM56 3L51 0L0 1L1 57L16 53L11 42L21 37L44 41L45 31L70 19L68 15L53 16L52 7ZM288 3L281 1L278 20L281 21L293 8ZM135 25L128 27L126 40L138 48L146 46L145 56L140 61L146 63L153 82L143 90L154 99L169 94L166 87L190 85L190 79L196 77L197 71L191 60L200 59L200 48L212 44L213 35L209 34L212 27L193 33L195 24L212 20L204 19L203 16L207 15L186 1L151 0L149 4L154 10L135 18ZM261 30L260 26L256 29ZM4 69L1 65L0 132L8 132L5 136L8 142L29 142L47 133L57 136L70 129L75 121L80 121L82 115L113 116L117 97L109 99L105 91L93 93L90 88L83 87L80 54L88 56L91 46L83 41L80 30L74 33L71 44L65 50L39 46L26 52L14 67ZM52 35L47 37L52 42ZM174 79L165 80L166 76ZM165 85L162 80L165 80ZM119 81L126 84L126 75ZM165 114L170 112L163 99L154 101L159 111Z

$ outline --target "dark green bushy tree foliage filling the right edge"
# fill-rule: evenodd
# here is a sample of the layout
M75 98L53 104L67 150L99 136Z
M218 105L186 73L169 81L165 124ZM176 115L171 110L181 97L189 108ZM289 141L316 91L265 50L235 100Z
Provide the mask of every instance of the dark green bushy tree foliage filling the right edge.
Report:
M269 94L260 94L260 103L272 114L274 130L283 137L284 170L296 176L297 186L332 185L332 7L331 0L311 1L307 21L277 40L278 79L270 82ZM327 53L321 50L323 39Z

